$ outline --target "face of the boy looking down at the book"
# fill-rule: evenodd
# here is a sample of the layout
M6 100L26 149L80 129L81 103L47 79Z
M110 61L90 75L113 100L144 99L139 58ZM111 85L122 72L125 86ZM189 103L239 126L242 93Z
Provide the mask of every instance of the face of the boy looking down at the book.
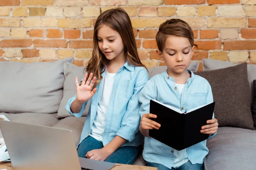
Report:
M189 39L170 35L166 38L163 52L157 50L157 55L166 63L168 72L182 74L189 67L195 46L191 47Z

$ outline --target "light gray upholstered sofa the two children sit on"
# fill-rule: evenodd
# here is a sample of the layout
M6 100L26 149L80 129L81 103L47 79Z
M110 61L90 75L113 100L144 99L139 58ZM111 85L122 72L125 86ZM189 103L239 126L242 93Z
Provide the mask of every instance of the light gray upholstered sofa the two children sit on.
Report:
M205 60L203 64L207 64L207 61L212 62ZM75 94L75 76L79 79L83 77L83 68L72 62L72 58L31 64L0 62L0 114L15 122L70 129L78 144L88 107L81 118L69 115L64 108L67 100ZM192 62L189 69L196 71L198 64ZM220 63L215 65L220 66ZM221 68L227 66L233 66L233 63L225 62ZM209 65L204 65L204 68L219 69L209 68ZM165 69L164 66L150 68L150 77ZM249 84L247 88L249 89ZM247 101L248 105L252 105L250 101ZM226 127L219 127L217 135L207 141L209 154L205 159L206 170L256 169L256 130L250 130L253 129L251 113L249 117L246 119L246 123L250 124L249 129L236 127L236 122L235 125L227 124ZM221 116L219 119L221 121ZM242 116L242 119L245 118ZM225 123L227 122L224 121L222 125ZM134 164L145 165L142 154Z

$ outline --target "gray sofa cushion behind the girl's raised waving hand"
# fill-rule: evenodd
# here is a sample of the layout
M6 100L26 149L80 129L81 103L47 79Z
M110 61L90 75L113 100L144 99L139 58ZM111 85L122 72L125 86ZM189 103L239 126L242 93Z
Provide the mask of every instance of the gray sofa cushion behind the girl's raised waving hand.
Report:
M68 100L76 94L75 77L77 77L78 80L81 80L84 77L84 68L66 62L64 63L64 77L63 98L61 99L58 113L56 114L58 119L72 116L68 113L67 109L65 109L65 106L67 105ZM88 101L82 116L87 116L89 106L90 101Z

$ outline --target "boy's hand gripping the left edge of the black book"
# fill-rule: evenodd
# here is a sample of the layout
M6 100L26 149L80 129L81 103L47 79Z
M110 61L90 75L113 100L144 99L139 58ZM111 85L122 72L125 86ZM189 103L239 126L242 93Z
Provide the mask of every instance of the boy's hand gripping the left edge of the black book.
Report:
M141 127L143 129L159 129L159 127L161 127L159 123L149 118L157 118L157 115L151 113L143 114L142 119L140 121Z

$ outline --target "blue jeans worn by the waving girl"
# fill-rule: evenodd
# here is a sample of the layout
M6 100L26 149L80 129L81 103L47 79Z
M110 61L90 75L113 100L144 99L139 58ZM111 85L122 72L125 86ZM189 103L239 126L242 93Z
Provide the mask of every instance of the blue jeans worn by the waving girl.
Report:
M94 149L102 149L104 146L102 142L94 139L91 136L85 138L77 149L79 157L85 158L88 151ZM119 164L132 164L138 156L140 147L135 146L122 146L119 147L114 153L112 153L105 160L107 162L119 163Z

